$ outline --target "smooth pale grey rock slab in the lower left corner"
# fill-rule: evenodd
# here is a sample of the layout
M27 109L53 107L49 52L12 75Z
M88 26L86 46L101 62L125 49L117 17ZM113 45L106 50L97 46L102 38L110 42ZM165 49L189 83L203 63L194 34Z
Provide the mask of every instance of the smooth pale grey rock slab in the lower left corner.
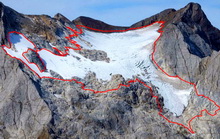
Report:
M0 132L3 138L37 138L51 119L35 82L0 50Z

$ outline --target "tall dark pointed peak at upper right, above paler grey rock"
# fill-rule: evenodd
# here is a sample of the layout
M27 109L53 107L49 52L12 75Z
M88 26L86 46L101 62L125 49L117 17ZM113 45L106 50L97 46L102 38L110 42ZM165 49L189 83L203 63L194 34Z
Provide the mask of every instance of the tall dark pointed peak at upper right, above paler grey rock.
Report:
M184 22L198 33L206 43L210 44L211 49L220 50L220 30L213 27L201 6L197 3L189 3L184 8L178 10L175 23Z

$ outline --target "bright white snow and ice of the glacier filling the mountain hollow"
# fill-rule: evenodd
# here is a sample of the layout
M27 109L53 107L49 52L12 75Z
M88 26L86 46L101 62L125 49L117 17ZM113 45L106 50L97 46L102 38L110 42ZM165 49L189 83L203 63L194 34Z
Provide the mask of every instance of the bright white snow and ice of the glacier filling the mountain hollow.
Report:
M181 115L184 107L187 106L192 88L177 89L172 83L159 78L162 74L157 74L158 71L150 60L153 43L160 36L159 28L160 24L156 23L146 28L121 33L98 33L84 30L84 35L81 35L80 39L79 37L73 38L84 49L105 51L110 58L109 63L91 61L74 50L69 50L67 56L57 56L46 50L41 50L38 54L45 61L48 71L53 70L64 79L71 79L73 76L83 78L89 71L95 72L97 78L102 80L110 80L111 75L114 74L121 74L125 79L139 75L143 80L150 81L159 88L158 91L164 97L166 108L176 115ZM22 52L28 48L34 49L30 42L17 34L12 34L11 40L17 51L4 47L8 54L23 60L39 76L52 76L49 72L41 73L34 64L27 63L22 57ZM166 80L175 79L167 78Z

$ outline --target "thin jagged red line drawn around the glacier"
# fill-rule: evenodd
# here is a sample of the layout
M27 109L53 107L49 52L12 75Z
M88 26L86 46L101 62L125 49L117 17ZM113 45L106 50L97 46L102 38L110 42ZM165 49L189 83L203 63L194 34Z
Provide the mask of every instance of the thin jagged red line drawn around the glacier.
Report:
M22 35L22 36L23 36L24 38L26 38L30 43L32 43L33 46L34 46L34 49L36 49L36 50L33 50L33 49L28 48L27 51L25 51L25 52L22 53L22 56L27 60L27 62L28 62L29 64L35 64L35 63L30 62L30 61L26 58L26 56L25 56L24 54L27 53L29 50L31 50L31 51L33 51L33 52L36 52L38 58L40 59L40 61L41 61L42 64L44 65L44 69L41 70L40 67L39 67L37 64L35 64L35 65L37 66L37 68L39 69L40 72L44 72L44 71L46 70L46 66L45 66L43 60L41 59L41 57L38 55L37 52L39 52L39 51L41 51L41 50L46 50L46 51L48 51L48 52L50 52L50 53L52 53L52 54L54 54L54 55L65 57L65 56L67 56L67 55L69 54L68 52L69 52L70 49L73 49L73 50L81 50L81 46L80 46L79 44L77 44L76 41L72 40L71 38L72 38L72 37L77 37L78 34L83 34L82 28L90 29L90 30L93 30L93 31L106 32L106 33L107 33L107 32L108 32L108 33L111 33L111 32L126 32L126 31L129 31L129 30L136 30L136 29L145 28L145 27L151 26L151 25L153 25L153 24L155 24L155 23L161 24L161 28L158 30L158 32L160 33L160 36L159 36L159 37L157 38L157 40L154 42L154 46L153 46L153 52L152 52L152 56L151 56L153 63L156 65L156 67L157 67L159 70L161 70L161 71L162 71L165 75L167 75L168 77L178 78L178 79L180 79L181 81L183 81L183 82L185 82L185 83L188 83L188 84L190 84L190 85L193 85L197 96L202 96L202 97L208 99L209 101L211 101L212 103L214 103L215 106L218 107L218 109L214 111L214 114L209 113L207 109L203 109L203 110L200 111L199 115L196 115L196 116L192 117L192 118L188 121L188 126L186 126L186 125L184 125L184 124L181 124L181 123L178 123L178 122L173 122L173 121L169 120L168 118L166 118L163 114L161 114L161 113L162 113L162 107L161 107L161 105L160 105L158 96L155 96L155 95L153 94L153 89L152 89L152 87L148 86L147 84L145 84L143 81L141 81L141 80L139 80L139 79L130 80L130 81L127 82L127 84L119 84L118 87L117 87L117 88L114 88L114 89L109 89L109 90L105 90L105 91L96 91L96 90L93 90L93 89L85 88L86 85L85 85L84 83L82 83L82 82L77 81L76 79L60 79L60 78L47 77L47 76L42 76L42 77L41 77L41 76L39 76L39 75L37 74L36 71L32 70L24 61L22 61L21 59L19 59L19 58L17 58L17 57L13 57L12 55L8 54L7 51L6 51L5 48L4 48L4 47L6 47L6 48L8 48L8 49L11 48L11 44L12 44L12 43L11 43L10 38L9 38L11 33L16 33L16 34ZM150 24L150 25L146 25L146 26L142 26L142 27L137 27L137 28L129 28L129 29L125 29L125 30L99 30L99 29L94 29L94 28L90 28L90 27L87 27L87 26L83 26L83 25L76 25L76 28L79 30L79 31L77 31L77 30L72 29L72 28L70 28L70 27L66 27L67 29L69 29L70 31L72 31L73 34L71 34L71 35L69 35L69 36L67 36L67 37L65 37L65 38L66 38L70 43L74 44L77 48L72 48L72 47L67 47L67 46L65 46L65 47L64 47L65 50L64 50L64 52L62 52L62 51L60 51L59 49L57 49L56 47L53 47L53 49L56 50L56 51L58 52L58 54L55 54L54 52L52 52L52 51L50 51L50 50L48 50L48 49L46 49L46 48L38 49L38 48L36 47L36 45L35 45L32 41L30 41L26 36L24 36L22 33L16 32L16 31L12 31L12 32L9 32L9 33L8 33L8 40L9 40L10 47L8 47L8 46L6 46L6 45L2 45L2 49L3 49L3 50L5 51L5 53L6 53L7 55L9 55L10 57L15 58L15 59L21 61L22 63L24 63L24 64L25 64L32 72L34 72L34 73L38 76L38 78L40 78L40 79L41 79L41 78L50 78L50 79L55 79L55 80L60 80L60 81L69 81L69 82L75 81L77 84L80 84L80 85L81 85L81 88L82 88L83 90L91 91L91 92L93 92L93 93L106 93L106 92L110 92L110 91L116 91L116 90L120 89L122 86L124 86L124 87L130 87L131 83L139 82L139 83L141 83L142 85L144 85L145 87L149 88L152 97L156 98L157 106L158 106L158 109L159 109L159 112L158 112L158 115L159 115L159 116L163 117L163 118L164 118L166 121L168 121L169 123L173 123L173 124L180 125L180 126L184 127L185 129L187 129L190 133L194 134L195 132L193 131L192 126L191 126L192 120L194 120L194 119L197 118L197 117L202 117L202 116L203 116L203 112L206 112L206 113L209 114L210 116L215 116L215 115L217 114L217 112L220 110L220 106L219 106L215 101L213 101L212 99L210 99L209 97L207 97L207 96L205 96L205 95L199 94L199 93L198 93L198 90L197 90L197 88L196 88L196 84L191 83L191 82L189 82L189 81L186 81L186 80L182 79L181 77L179 77L178 75L176 75L176 76L171 76L171 75L169 75L167 72L165 72L165 71L157 64L157 62L156 62L155 59L154 59L154 54L155 54L155 52L156 52L157 41L161 38L161 36L162 36L162 34L163 34L162 29L163 29L163 27L164 27L164 25L163 25L164 23L165 23L164 21L157 21L157 22L154 22L154 23L152 23L152 24Z

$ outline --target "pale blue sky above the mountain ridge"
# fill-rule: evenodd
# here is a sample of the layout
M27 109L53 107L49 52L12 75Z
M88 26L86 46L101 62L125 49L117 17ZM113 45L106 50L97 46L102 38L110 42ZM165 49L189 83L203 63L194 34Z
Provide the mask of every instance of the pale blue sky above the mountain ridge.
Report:
M179 9L189 2L202 6L212 24L220 28L220 0L1 0L5 5L24 14L56 13L70 20L88 16L106 23L129 26L167 8Z

